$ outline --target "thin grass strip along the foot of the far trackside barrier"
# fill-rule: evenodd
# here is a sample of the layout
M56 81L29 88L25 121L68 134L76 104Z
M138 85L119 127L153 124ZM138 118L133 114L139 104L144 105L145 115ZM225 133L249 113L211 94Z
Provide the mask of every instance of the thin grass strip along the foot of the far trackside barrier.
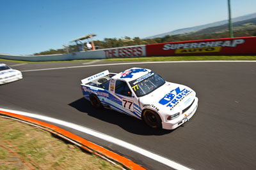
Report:
M0 61L9 62L26 62L33 63L32 61L22 60L7 60L0 59ZM115 58L103 59L102 61L186 61L186 60L256 60L255 55L211 55L211 56L169 56L169 57L131 57L131 58ZM90 62L93 60L66 60L66 61L45 61L45 62ZM36 62L38 63L38 62Z

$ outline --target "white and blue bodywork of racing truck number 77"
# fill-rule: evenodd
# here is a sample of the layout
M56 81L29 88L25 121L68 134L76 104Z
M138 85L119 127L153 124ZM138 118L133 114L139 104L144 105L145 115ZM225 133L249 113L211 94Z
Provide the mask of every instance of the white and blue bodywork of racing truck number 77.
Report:
M114 75L111 78L106 77L109 74ZM144 110L152 110L161 118L163 129L175 129L195 114L198 106L196 92L184 85L165 81L149 94L141 97L138 94L136 95L136 90L140 88L138 85L155 74L150 69L136 67L118 74L109 73L106 70L81 80L81 89L85 99L90 100L90 94L95 94L104 107L136 118L142 119ZM100 78L108 79L108 89L100 87L100 83L97 83ZM115 92L117 81L125 81L132 94L129 94L129 96L117 94ZM95 83L95 85L90 82Z

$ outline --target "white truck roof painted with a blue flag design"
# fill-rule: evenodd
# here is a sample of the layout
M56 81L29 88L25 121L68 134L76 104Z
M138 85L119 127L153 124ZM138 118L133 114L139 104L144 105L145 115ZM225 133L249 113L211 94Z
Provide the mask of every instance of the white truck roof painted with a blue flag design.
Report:
M139 67L132 67L131 69L126 69L125 71L115 75L117 80L132 81L150 73L150 69L144 69Z

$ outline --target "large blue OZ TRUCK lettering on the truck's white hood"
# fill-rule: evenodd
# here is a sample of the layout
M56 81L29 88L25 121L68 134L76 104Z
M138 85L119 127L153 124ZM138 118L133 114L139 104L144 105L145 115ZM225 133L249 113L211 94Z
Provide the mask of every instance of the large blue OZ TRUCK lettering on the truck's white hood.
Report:
M170 107L170 110L175 108L177 104L179 104L180 101L182 101L186 96L191 94L191 90L183 89L180 90L179 87L176 89L170 91L168 94L166 94L159 103L162 105L166 105L166 107Z

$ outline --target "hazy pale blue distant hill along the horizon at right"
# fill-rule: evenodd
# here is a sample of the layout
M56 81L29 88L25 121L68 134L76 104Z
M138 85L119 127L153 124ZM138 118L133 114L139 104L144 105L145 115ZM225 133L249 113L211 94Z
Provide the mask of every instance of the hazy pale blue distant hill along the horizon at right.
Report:
M253 20L256 19L256 13L232 18L233 26L235 27L235 25L237 23L239 23L239 25L243 25L242 24L243 21L244 21L244 24L250 24L251 19L252 19L252 22L253 22ZM199 34L202 34L202 32L205 32L204 34L209 34L209 33L212 33L211 31L216 32L216 30L214 30L213 28L215 28L215 29L218 28L219 31L223 31L224 28L227 30L227 24L228 24L228 20L222 20L219 22L211 23L211 24L199 25L196 27L188 27L188 28L184 28L184 29L177 29L175 31L170 31L170 32L166 32L163 34L157 34L155 36L149 36L149 37L143 38L143 39L153 39L153 38L158 38L158 37L163 38L164 36L167 36L167 35L173 36L173 35L177 35L177 34L191 34L191 35L193 34L193 36L195 36L196 32L199 32ZM244 26L247 26L247 25L244 25ZM202 32L200 33L200 31L202 31Z

